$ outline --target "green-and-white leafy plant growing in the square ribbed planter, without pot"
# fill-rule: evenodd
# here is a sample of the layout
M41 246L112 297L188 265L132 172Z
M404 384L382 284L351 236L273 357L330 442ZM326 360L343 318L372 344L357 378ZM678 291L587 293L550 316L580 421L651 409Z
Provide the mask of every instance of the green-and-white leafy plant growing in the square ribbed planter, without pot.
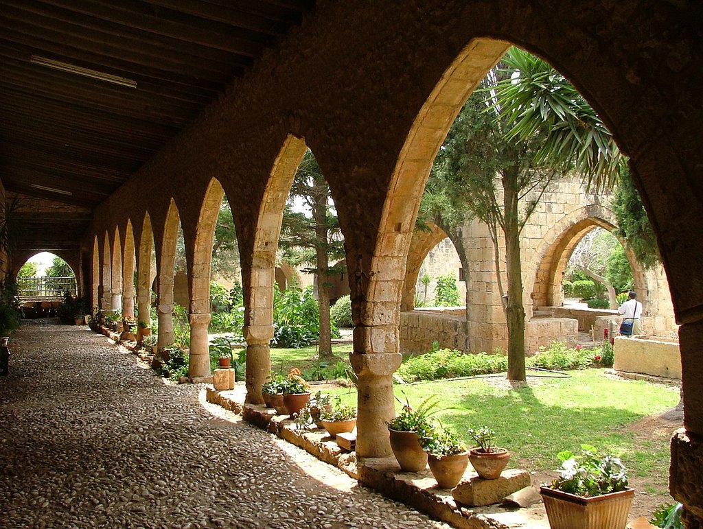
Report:
M600 457L598 450L591 445L581 445L579 456L565 450L557 457L562 462L561 475L551 483L550 488L593 497L627 487L627 469L619 457L610 454Z

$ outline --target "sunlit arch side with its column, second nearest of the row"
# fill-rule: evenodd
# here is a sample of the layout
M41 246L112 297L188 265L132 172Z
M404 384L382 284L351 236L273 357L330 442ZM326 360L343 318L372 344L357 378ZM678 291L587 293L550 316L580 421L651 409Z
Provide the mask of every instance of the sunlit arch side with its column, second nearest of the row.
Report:
M305 141L289 134L273 161L257 215L252 263L245 281L245 328L247 340L247 403L261 404L262 384L271 371L269 341L273 337L273 283L276 280L276 250L295 171L303 159ZM248 291L248 292L247 292Z

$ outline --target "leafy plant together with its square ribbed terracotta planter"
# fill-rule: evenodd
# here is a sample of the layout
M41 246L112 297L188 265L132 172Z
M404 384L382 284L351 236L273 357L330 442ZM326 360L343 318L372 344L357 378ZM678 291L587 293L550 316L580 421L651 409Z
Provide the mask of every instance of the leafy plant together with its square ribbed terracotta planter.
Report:
M581 450L580 456L560 452L561 475L540 488L550 528L623 529L635 494L627 486L627 469L591 445Z

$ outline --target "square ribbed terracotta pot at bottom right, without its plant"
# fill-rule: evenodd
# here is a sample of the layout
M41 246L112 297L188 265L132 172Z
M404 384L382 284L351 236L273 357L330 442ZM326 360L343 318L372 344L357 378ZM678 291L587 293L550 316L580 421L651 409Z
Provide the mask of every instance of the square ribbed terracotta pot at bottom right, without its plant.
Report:
M539 492L552 529L624 529L635 495L631 488L590 498L549 487Z

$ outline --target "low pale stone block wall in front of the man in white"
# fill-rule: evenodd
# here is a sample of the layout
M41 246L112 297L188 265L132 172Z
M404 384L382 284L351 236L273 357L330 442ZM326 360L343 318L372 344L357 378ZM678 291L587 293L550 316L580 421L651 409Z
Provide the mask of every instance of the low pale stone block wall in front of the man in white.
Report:
M616 337L614 370L681 380L678 341L664 338Z

